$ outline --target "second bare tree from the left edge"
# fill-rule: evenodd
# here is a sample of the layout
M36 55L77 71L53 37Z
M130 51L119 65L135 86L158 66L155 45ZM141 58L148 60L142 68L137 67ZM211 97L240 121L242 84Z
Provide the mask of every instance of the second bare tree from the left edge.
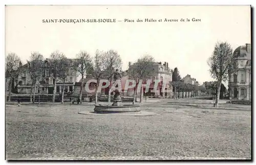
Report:
M29 65L29 75L32 80L31 91L30 91L30 102L32 102L32 91L33 91L33 103L35 102L35 89L38 81L41 80L41 77L44 73L44 56L38 52L31 53L31 56L28 61ZM34 88L33 88L34 86Z

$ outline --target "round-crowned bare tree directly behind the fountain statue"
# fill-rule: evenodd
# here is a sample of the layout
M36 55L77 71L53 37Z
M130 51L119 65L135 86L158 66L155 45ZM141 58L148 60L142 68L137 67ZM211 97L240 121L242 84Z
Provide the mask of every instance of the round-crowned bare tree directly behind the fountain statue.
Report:
M110 103L111 102L111 87L112 87L113 75L114 75L114 72L116 69L119 69L119 70L121 69L122 60L121 60L120 55L114 50L105 52L102 55L102 59L104 59L102 69L104 70L104 74L110 81L109 99L108 99L108 102Z

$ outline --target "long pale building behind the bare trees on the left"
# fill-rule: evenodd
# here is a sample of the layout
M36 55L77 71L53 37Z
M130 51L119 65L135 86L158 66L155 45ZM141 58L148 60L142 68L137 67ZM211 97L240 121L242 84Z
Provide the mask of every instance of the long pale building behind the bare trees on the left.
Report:
M59 78L56 80L53 77L50 69L50 59L46 59L44 61L44 76L43 79L45 81L44 84L40 84L37 82L35 93L41 92L42 94L53 94L54 90L54 82L56 81L56 94L61 93L62 90L65 90L66 93L73 92L75 87L75 82L79 80L78 74L74 71L73 65L76 59L69 59L69 73L67 77L67 82L65 83L65 87L62 87L62 82ZM29 75L29 63L22 66L22 73L17 77L17 92L18 93L30 93L32 80ZM40 91L41 90L41 91Z

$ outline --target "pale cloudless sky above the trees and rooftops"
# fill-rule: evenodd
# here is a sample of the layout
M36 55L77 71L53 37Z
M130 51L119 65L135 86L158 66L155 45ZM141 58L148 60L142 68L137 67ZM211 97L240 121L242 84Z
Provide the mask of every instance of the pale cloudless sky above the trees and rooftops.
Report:
M187 18L190 21L180 21ZM116 22L64 23L63 19ZM16 53L25 64L31 52L49 58L59 50L75 58L80 51L93 57L97 49L113 49L120 54L124 70L129 61L147 54L157 62L168 62L170 68L178 67L181 77L189 74L202 84L214 80L207 59L216 42L226 41L234 50L251 43L250 28L250 6L6 6L6 55Z

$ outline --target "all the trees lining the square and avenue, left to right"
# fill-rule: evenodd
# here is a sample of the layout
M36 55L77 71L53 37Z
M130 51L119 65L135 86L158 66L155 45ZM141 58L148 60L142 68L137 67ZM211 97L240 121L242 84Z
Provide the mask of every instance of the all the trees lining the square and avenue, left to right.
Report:
M83 89L83 79L84 76L90 76L92 78L95 78L97 80L96 83L96 91L98 90L99 86L99 80L101 78L107 78L111 83L113 80L113 75L116 69L121 69L122 60L120 55L113 50L103 52L103 51L96 51L95 56L91 57L90 54L88 54L86 51L80 51L76 55L76 61L73 65L73 69L79 73L82 76L81 81L81 87L80 87L80 99L82 96L82 89ZM67 81L68 77L68 68L70 67L70 60L63 54L58 51L53 52L50 55L50 69L51 74L55 80L57 78L62 82L62 87L64 88L64 84ZM15 79L16 77L24 72L23 66L19 65L20 58L14 54L10 53L6 57L6 83L8 79ZM30 100L31 102L34 102L34 98L32 100L32 91L34 92L35 96L35 89L36 85L38 84L44 84L43 75L44 75L44 57L38 53L34 52L31 54L29 60L27 61L29 64L28 67L28 73L31 78L31 95ZM134 62L132 67L127 70L128 75L130 78L133 78L136 80L136 86L134 88L134 102L136 98L136 93L138 90L138 84L140 79L146 80L147 78L152 77L156 70L154 70L153 67L154 58L151 56L143 56L139 58L137 61ZM222 81L225 81L227 79L227 74L234 71L234 69L231 69L231 66L234 66L236 64L234 62L234 58L232 56L232 49L230 48L230 45L226 42L217 43L215 46L215 51L212 54L212 56L209 58L208 64L210 66L210 74L213 78L217 79L217 104L218 107L218 100L219 100L219 94L220 94L220 87ZM175 95L176 90L180 91L207 91L208 89L203 88L202 86L197 85L191 85L191 84L185 84L181 81L181 77L178 72L178 68L175 68L173 71L173 81L170 85L174 87ZM11 86L13 81L10 81L9 88ZM112 84L110 84L112 86ZM34 89L34 90L32 90ZM139 90L143 90L142 88ZM63 103L63 92L62 90L62 103ZM55 93L56 93L56 81L54 81L54 92L53 92L53 102L55 101ZM97 93L96 92L96 103L97 103ZM111 90L109 90L109 102L110 102L110 93ZM143 92L140 92L141 96L143 97ZM11 94L11 92L10 92ZM7 96L7 95L6 95ZM185 96L186 97L186 96ZM176 96L175 96L176 98ZM9 97L10 100L10 97ZM140 102L142 99L140 99Z

